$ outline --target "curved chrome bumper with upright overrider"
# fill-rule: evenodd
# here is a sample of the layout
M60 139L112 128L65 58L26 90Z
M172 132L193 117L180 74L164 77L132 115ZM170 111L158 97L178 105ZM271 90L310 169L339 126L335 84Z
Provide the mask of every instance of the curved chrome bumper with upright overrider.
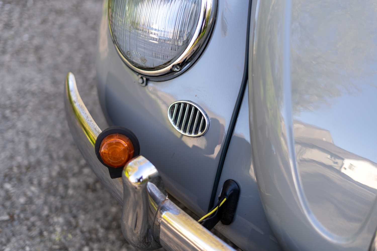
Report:
M123 236L133 246L153 250L234 250L169 200L157 169L143 156L123 169L122 178L111 179L97 159L94 144L101 129L90 116L75 77L68 73L64 95L72 136L94 173L123 205Z

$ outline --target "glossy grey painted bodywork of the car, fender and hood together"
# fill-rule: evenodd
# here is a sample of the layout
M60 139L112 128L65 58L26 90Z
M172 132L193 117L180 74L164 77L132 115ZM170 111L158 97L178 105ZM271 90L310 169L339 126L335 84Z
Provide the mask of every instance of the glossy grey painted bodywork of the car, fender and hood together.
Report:
M101 106L197 215L225 180L239 184L234 222L216 228L241 249L367 250L377 227L376 12L370 0L219 0L196 63L143 87L113 45L105 0ZM204 136L170 124L179 100L207 113Z

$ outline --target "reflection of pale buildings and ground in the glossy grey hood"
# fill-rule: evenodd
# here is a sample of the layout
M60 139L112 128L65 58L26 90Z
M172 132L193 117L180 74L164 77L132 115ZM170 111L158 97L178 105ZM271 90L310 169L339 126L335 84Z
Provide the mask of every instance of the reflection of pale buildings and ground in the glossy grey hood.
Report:
M317 219L337 234L357 231L377 193L377 164L334 144L328 130L300 121L293 130L303 188Z

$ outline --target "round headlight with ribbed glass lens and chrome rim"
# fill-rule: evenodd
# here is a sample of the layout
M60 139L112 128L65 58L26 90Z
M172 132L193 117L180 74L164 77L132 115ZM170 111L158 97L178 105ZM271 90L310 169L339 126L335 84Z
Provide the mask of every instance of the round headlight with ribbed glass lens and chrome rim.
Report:
M123 61L147 76L178 75L199 56L217 0L109 0L109 27Z

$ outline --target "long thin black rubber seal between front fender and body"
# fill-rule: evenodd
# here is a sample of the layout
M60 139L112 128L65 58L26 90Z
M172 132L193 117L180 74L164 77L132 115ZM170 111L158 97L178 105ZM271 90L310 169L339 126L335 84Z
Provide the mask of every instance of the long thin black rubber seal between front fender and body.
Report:
M248 11L248 15L247 15L244 75L242 77L241 88L239 89L239 92L238 92L236 105L234 106L233 114L232 114L231 119L230 119L230 124L229 124L229 128L228 128L227 136L225 136L224 147L222 147L222 150L221 150L220 161L219 161L219 165L218 165L217 171L216 171L215 182L213 183L211 199L210 199L210 203L208 205L208 211L213 207L213 205L215 203L215 198L216 198L217 188L218 188L219 182L220 182L222 167L224 166L224 161L225 161L225 157L227 156L230 139L233 136L234 127L236 126L236 121L237 121L237 118L238 118L239 110L240 110L241 104L242 104L242 99L244 98L244 93L245 93L245 89L246 89L246 83L247 83L247 79L248 79L251 2L252 1L250 0L249 6L248 6L249 11Z

